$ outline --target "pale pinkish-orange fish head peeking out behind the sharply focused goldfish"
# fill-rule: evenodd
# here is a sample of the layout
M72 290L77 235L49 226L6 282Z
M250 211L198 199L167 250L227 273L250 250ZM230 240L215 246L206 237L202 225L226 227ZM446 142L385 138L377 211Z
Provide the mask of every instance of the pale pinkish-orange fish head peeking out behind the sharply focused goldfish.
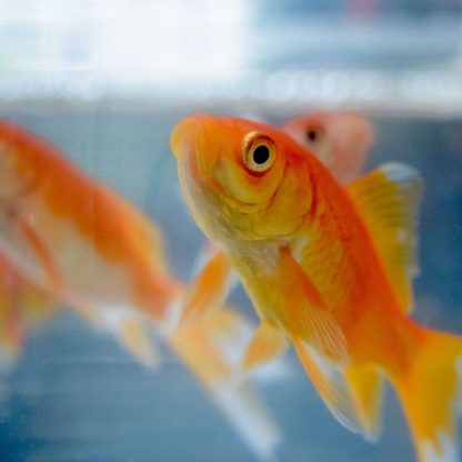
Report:
M313 112L288 121L283 129L343 184L358 177L373 142L372 124L354 112Z

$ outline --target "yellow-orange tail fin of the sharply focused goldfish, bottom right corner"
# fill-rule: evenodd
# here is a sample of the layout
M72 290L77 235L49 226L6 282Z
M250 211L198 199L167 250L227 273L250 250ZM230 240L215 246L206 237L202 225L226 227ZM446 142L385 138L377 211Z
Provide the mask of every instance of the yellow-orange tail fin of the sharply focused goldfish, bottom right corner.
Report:
M424 343L409 374L393 384L401 398L419 462L458 462L462 339L423 331Z

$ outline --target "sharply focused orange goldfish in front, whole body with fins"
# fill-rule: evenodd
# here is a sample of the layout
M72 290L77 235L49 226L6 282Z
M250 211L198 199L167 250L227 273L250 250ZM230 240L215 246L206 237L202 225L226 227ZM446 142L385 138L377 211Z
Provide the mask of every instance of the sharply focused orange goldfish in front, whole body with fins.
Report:
M270 125L197 114L171 135L181 189L261 318L244 362L290 341L320 396L352 431L379 432L386 378L420 462L456 461L459 337L406 317L422 180L388 163L342 188Z

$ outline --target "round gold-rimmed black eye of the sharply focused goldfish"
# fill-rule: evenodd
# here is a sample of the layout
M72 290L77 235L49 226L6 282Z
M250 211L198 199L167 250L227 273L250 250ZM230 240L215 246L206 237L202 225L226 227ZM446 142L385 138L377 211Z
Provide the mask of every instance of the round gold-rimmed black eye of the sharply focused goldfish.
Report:
M244 139L243 161L253 172L265 172L275 160L274 141L262 133L251 132Z

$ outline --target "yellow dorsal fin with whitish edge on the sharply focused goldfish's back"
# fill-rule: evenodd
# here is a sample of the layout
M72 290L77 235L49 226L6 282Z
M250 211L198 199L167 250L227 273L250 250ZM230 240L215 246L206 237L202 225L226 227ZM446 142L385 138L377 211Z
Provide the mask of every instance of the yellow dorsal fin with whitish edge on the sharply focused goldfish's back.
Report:
M416 228L422 187L416 170L393 162L348 188L405 313L412 310L412 279L419 271Z

